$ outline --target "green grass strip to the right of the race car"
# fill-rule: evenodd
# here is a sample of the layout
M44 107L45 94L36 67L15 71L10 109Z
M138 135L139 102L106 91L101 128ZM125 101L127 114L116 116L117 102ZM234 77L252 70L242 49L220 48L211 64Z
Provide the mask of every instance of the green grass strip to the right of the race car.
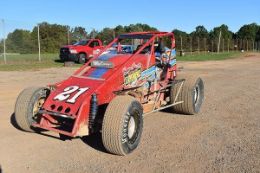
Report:
M241 56L240 52L224 52L224 53L195 53L193 55L177 56L179 61L212 61L225 60Z

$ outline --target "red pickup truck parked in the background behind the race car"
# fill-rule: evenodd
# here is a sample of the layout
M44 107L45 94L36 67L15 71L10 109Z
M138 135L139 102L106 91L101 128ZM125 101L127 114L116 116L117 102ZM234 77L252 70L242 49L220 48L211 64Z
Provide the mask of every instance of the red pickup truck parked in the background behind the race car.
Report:
M60 60L84 64L103 48L104 46L99 39L81 40L73 45L63 46L60 49Z

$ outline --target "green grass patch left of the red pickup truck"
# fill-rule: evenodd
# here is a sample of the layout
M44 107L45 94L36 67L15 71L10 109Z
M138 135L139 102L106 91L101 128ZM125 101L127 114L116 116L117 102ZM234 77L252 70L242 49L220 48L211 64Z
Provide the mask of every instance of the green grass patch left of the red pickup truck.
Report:
M59 61L58 54L41 54L41 62L38 60L38 54L11 54L7 55L6 59L7 64L4 64L4 57L0 56L0 71L25 71L64 66L64 63Z

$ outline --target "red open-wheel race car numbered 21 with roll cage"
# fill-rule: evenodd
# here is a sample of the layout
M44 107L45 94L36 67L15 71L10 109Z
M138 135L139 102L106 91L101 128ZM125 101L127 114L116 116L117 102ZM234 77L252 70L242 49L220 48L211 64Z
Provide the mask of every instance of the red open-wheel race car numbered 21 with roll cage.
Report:
M173 33L122 34L68 79L23 90L15 119L25 131L45 129L69 137L101 131L107 151L126 155L140 142L143 116L166 108L199 112L202 79L177 77L176 69Z

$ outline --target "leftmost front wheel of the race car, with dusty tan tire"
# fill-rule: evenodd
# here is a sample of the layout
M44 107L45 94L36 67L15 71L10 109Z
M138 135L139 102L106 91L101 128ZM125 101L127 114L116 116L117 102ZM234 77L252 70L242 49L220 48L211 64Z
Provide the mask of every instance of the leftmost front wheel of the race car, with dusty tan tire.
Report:
M24 89L15 103L15 121L24 131L33 132L32 124L39 120L37 112L42 107L49 89L44 87L31 87Z

